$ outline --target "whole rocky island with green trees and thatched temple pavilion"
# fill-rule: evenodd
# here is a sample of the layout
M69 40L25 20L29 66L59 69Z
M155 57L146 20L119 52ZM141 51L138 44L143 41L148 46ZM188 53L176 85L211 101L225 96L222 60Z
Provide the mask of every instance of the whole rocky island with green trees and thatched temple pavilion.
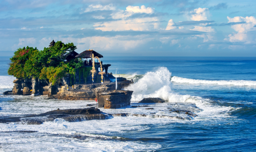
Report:
M103 64L100 53L89 49L79 54L75 49L73 43L54 40L43 51L33 47L18 49L8 70L9 75L17 79L12 91L4 94L48 95L64 100L98 99L99 107L107 109L130 105L133 91L123 89L133 82L108 73L111 64Z

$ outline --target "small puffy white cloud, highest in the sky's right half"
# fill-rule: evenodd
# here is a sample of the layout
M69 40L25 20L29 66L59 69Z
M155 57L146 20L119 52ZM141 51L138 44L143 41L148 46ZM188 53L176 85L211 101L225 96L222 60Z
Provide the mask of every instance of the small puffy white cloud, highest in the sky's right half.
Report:
M190 11L191 20L192 21L201 21L201 20L208 20L210 16L208 8L196 8L193 11Z

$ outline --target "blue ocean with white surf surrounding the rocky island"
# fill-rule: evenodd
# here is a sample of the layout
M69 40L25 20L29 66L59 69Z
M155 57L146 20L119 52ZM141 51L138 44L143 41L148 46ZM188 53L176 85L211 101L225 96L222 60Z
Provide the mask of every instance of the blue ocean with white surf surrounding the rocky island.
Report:
M10 57L0 57L0 93L11 90ZM41 125L0 123L0 151L256 151L256 57L104 57L108 72L133 78L131 106L103 109L128 117ZM94 101L0 95L0 117L85 108ZM148 107L147 107L148 108ZM193 111L197 117L170 112ZM143 116L145 114L146 116Z

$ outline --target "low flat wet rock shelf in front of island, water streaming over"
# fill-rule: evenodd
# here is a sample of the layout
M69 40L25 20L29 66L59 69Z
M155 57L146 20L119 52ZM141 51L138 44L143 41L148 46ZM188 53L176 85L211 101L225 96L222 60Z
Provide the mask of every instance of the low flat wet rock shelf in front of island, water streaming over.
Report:
M88 102L87 102L88 103ZM95 106L95 104L87 104ZM96 106L95 106L96 107ZM114 117L146 117L192 120L202 109L192 103L132 103L131 106L121 109L105 109L104 112L95 107L84 109L64 109L41 113L38 115L27 115L23 117L0 117L0 123L19 123L26 125L39 125L44 122L55 121L59 118L67 122L79 122L89 120L104 120Z

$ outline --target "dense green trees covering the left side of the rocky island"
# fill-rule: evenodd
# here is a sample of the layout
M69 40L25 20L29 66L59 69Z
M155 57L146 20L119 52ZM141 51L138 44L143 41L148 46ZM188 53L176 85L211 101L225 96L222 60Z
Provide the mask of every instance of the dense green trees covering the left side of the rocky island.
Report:
M76 70L83 66L82 60L65 61L66 54L75 49L73 43L64 44L61 41L57 41L53 47L45 47L42 51L28 46L18 48L10 59L8 74L17 78L47 79L52 84L57 83L66 74L69 74L71 79L75 78Z

